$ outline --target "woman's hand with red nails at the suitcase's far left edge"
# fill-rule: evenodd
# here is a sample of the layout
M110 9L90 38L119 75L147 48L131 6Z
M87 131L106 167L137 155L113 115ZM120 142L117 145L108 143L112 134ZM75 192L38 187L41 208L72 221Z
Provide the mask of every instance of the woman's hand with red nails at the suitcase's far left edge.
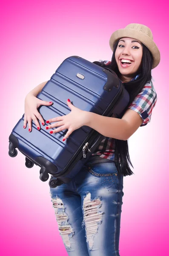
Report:
M47 102L47 101L38 99L33 94L28 93L25 98L25 114L24 114L23 128L26 128L26 124L28 122L29 131L31 131L32 120L34 120L34 123L37 126L37 129L40 130L40 124L38 119L40 120L42 125L45 125L45 122L41 114L37 111L37 108L39 108L40 105L51 106L52 103L53 102Z

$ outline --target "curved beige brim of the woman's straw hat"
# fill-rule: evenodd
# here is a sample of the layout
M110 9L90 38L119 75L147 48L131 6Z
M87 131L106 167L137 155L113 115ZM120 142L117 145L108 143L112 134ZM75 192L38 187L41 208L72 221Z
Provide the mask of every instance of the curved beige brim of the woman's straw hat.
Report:
M123 38L123 37L134 38L134 39L137 39L140 42L142 42L152 53L152 56L153 56L152 69L158 66L158 64L160 63L160 51L159 51L157 45L148 35L144 35L142 32L138 32L134 29L118 29L118 30L116 30L111 35L110 40L109 40L109 45L110 45L110 48L112 49L112 51L113 51L113 44L115 43L115 41L117 41L118 39Z

